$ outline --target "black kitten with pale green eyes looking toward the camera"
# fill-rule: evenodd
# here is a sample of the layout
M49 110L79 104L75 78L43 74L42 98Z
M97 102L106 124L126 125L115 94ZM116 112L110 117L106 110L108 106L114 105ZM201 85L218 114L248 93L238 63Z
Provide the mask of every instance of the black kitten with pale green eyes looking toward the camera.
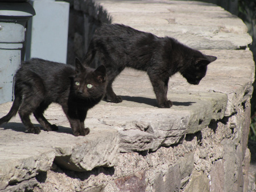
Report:
M14 102L9 113L0 119L0 124L9 122L19 112L27 132L40 133L30 121L33 113L46 131L57 131L43 112L52 103L59 103L71 124L75 136L85 136L87 111L101 101L106 89L106 68L85 68L76 59L75 67L42 59L23 62L15 74Z

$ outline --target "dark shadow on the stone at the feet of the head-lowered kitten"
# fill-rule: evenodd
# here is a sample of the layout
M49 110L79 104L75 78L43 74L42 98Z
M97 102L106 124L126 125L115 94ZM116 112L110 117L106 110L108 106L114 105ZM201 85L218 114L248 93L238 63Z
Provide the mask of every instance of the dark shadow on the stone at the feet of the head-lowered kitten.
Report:
M134 97L134 96L127 96L127 95L122 95L121 96L123 100L125 101L131 101L131 102L136 102L136 103L143 103L146 105L150 105L153 107L158 107L158 103L156 102L156 99L152 99L152 98L146 98L146 97ZM174 106L190 106L192 105L192 103L196 103L196 102L177 102L174 101L172 102L174 104Z

